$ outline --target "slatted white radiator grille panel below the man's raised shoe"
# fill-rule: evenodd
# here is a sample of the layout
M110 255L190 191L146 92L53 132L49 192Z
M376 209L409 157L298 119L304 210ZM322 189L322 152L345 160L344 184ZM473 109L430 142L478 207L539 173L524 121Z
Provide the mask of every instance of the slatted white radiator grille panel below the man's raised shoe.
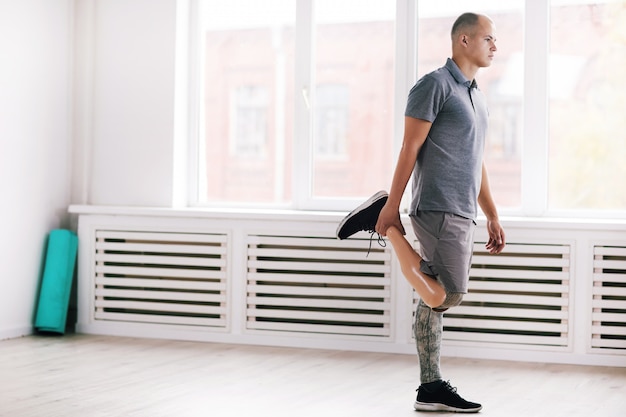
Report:
M247 236L246 328L391 336L391 252L359 239Z

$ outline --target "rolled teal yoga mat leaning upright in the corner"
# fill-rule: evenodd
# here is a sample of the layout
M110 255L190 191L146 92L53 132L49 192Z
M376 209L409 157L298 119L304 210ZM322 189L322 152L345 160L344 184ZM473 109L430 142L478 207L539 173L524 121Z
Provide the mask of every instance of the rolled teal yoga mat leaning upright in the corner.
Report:
M65 333L77 249L78 237L73 232L50 232L35 318L39 331Z

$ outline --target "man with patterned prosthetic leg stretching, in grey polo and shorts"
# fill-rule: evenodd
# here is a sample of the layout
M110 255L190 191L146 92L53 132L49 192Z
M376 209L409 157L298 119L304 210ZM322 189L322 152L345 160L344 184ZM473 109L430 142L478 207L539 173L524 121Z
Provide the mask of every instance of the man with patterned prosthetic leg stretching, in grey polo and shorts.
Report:
M454 22L451 38L452 58L422 77L409 93L389 194L377 193L350 213L339 225L338 236L375 231L388 236L399 254L396 236L405 233L400 200L413 176L410 218L422 253L421 258L415 255L418 265L407 270L445 289L443 303L429 306L414 285L420 294L414 332L421 378L414 407L478 412L480 404L464 400L442 379L440 349L443 312L459 305L467 293L478 205L487 218L487 250L497 254L505 246L483 161L487 107L474 79L479 68L491 65L497 50L495 26L487 16L465 13Z

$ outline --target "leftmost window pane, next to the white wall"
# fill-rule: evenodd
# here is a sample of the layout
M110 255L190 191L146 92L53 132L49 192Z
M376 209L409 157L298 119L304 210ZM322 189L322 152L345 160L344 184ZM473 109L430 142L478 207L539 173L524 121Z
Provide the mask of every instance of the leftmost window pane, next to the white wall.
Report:
M294 2L201 0L196 203L291 200Z

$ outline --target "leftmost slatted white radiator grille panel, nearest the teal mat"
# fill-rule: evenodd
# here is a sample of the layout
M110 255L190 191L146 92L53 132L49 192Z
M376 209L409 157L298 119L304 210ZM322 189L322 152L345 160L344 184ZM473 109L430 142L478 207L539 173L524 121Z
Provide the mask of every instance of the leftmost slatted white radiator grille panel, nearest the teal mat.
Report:
M96 230L94 320L226 327L224 234Z

